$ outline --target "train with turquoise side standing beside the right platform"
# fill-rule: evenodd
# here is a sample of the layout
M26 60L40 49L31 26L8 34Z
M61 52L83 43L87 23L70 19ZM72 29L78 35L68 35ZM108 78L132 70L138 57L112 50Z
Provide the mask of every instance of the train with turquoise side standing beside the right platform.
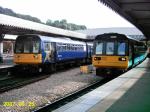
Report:
M92 64L96 75L126 71L147 57L147 46L124 34L97 35L93 44Z

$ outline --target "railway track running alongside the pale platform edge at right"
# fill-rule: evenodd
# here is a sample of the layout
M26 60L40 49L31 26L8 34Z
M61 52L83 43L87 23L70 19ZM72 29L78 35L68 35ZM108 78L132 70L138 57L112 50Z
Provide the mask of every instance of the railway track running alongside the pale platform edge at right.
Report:
M46 104L43 107L38 107L38 109L33 110L32 112L51 112L79 97L81 97L82 95L96 89L99 86L102 86L103 84L109 82L110 80L116 78L112 77L112 78L104 78L101 81L97 81L91 85L88 85L82 89L79 89L78 91L75 91L73 93L70 93L68 95L65 95L64 97L60 97L58 100L55 100L54 102L51 102L51 104Z

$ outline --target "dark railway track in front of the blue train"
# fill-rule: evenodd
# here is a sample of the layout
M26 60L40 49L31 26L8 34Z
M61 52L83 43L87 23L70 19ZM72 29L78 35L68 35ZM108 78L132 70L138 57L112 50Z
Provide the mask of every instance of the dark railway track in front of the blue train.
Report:
M1 74L2 73L2 74ZM9 69L2 70L0 75L0 93L6 92L8 90L25 86L27 84L45 79L50 75L32 75L32 76L16 76L10 75Z

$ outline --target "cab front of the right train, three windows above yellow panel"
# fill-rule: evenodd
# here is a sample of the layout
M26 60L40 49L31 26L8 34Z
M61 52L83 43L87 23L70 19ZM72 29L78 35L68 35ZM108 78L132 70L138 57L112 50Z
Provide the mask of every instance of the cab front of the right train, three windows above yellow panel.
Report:
M102 35L94 41L93 65L97 68L128 67L128 42L115 35Z

